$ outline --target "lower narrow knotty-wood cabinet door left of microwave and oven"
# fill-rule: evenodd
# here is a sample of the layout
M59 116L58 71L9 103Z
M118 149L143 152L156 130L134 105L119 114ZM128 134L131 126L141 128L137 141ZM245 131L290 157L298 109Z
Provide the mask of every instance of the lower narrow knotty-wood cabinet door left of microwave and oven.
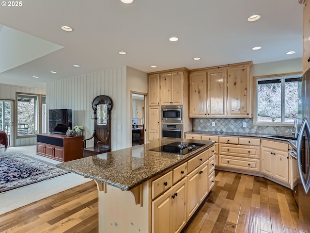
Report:
M148 140L160 137L160 108L159 106L150 106L148 115Z

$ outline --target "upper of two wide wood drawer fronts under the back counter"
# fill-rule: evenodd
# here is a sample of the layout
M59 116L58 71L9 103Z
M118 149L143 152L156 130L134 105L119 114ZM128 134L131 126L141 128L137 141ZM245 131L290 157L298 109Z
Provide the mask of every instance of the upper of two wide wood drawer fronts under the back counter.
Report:
M259 159L260 147L220 144L219 154Z

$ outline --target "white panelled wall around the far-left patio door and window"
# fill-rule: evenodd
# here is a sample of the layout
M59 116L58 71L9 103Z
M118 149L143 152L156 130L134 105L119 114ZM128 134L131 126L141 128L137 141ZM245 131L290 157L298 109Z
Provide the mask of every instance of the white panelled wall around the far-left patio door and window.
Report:
M0 83L0 100L16 100L16 92L29 93L36 95L45 95L46 90L41 88L33 88L26 86L17 86L10 84L1 84ZM15 115L16 109L13 108L13 115ZM15 127L15 119L13 119L13 127ZM35 145L37 141L36 135L26 138L16 138L15 146L27 146Z

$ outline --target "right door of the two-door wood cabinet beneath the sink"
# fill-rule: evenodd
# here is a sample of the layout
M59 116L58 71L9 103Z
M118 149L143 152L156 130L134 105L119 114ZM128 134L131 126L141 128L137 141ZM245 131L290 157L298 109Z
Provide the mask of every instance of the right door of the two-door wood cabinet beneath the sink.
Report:
M275 178L289 182L289 156L288 152L275 150Z

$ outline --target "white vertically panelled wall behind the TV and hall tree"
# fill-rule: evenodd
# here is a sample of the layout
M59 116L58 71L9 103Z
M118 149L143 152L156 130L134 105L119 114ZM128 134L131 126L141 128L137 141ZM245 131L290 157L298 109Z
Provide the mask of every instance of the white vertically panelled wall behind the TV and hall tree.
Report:
M146 77L145 80L142 78ZM136 86L127 85L136 82ZM130 90L147 92L147 74L130 67L116 67L47 83L47 109L71 108L73 124L84 125L85 138L93 133L93 109L96 96L106 95L112 100L111 150L131 146ZM129 92L129 95L128 95ZM93 140L87 147L93 146Z

